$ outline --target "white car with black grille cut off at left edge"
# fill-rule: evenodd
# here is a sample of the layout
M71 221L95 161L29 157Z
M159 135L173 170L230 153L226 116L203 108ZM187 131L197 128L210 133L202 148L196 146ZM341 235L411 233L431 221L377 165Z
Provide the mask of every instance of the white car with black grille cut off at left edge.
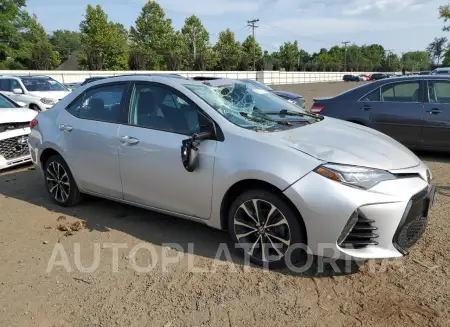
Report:
M36 115L0 94L0 170L31 161L28 135Z

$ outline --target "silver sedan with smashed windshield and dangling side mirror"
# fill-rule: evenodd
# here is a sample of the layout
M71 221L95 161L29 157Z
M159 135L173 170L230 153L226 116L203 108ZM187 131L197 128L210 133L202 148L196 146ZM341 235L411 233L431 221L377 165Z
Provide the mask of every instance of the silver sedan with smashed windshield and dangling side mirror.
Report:
M434 198L428 168L392 138L238 81L108 78L31 125L32 160L59 205L91 194L195 220L273 268L301 244L400 257Z

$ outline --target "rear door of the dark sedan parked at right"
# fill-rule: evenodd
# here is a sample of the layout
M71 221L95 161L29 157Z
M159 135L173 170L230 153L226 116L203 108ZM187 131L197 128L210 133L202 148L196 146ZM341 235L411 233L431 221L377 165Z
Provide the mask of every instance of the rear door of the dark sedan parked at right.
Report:
M387 83L379 89L379 101L369 101L362 110L370 112L371 127L416 147L422 138L423 90L420 80Z

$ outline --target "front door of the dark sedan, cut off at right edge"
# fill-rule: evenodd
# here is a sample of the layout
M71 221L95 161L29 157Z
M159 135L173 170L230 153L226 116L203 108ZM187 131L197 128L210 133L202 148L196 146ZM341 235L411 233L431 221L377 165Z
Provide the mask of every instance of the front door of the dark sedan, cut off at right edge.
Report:
M423 146L450 147L450 80L429 80L424 104Z

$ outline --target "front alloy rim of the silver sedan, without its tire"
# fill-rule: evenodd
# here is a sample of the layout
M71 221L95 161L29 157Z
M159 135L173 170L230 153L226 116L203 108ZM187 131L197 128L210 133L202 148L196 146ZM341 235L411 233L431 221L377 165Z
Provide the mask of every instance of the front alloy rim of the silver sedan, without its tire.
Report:
M278 261L291 245L289 223L272 203L251 199L234 214L234 232L244 251L262 262Z

